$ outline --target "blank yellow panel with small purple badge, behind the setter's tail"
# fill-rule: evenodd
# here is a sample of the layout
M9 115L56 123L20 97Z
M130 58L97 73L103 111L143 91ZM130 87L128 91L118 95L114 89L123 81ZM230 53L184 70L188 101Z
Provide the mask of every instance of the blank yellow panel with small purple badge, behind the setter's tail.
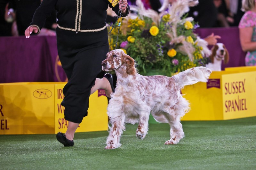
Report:
M221 75L224 71L213 71L207 83L198 82L181 90L190 103L190 110L181 120L223 120Z

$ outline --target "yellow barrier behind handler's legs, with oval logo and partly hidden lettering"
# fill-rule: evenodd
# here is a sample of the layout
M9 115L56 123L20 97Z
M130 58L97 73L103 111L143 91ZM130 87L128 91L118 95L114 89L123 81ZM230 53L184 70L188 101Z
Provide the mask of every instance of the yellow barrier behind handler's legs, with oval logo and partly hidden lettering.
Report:
M56 134L66 132L62 88L66 82L0 84L0 134ZM103 91L104 92L104 91ZM88 116L76 132L108 130L107 98L90 96ZM104 93L105 94L105 93Z

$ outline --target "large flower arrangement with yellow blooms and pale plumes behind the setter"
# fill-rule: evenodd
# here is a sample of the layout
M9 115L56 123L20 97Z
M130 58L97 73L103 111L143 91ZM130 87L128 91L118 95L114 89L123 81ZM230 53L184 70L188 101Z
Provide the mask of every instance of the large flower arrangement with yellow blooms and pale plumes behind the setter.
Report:
M198 2L177 0L168 10L158 14L146 10L140 0L131 6L135 14L122 18L117 48L121 48L137 63L142 75L172 76L195 66L205 65L210 50L207 42L194 30L198 25L186 17L189 6ZM108 29L112 29L108 26ZM116 49L118 26L109 34L110 50Z

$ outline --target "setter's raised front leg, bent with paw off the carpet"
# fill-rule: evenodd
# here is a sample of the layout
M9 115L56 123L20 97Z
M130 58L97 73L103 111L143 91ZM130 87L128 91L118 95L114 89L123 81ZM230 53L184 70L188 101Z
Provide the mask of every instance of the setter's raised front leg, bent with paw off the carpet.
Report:
M140 122L136 130L136 137L138 139L144 139L148 133L148 119L149 113L140 115Z

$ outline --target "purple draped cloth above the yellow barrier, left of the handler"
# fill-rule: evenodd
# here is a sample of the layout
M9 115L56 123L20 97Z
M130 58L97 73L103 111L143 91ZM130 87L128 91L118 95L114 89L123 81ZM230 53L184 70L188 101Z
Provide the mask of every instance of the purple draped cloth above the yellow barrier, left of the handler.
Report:
M0 83L66 81L55 36L0 37Z

